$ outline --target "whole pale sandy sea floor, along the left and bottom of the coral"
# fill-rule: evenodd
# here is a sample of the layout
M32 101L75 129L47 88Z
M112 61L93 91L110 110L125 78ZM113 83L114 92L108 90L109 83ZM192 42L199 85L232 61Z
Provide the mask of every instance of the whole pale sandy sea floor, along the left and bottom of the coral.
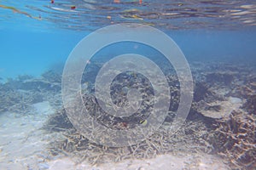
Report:
M33 105L34 112L19 115L5 112L0 116L0 167L1 169L229 169L219 156L206 153L166 154L152 159L128 159L119 162L91 165L79 164L69 156L49 156L49 143L61 139L61 134L46 133L42 127L55 110L48 101Z

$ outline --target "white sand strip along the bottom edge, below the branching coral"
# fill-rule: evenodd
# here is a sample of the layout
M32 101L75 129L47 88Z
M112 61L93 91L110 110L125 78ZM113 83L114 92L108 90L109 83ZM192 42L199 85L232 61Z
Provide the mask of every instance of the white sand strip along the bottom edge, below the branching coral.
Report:
M196 170L226 170L229 169L224 162L217 156L206 154L193 154L183 156L162 155L156 156L153 159L147 160L125 160L121 162L109 162L100 166L90 166L83 162L76 165L71 159L63 158L49 162L50 170L68 170L68 169L88 169L88 170L182 170L182 169L196 169Z

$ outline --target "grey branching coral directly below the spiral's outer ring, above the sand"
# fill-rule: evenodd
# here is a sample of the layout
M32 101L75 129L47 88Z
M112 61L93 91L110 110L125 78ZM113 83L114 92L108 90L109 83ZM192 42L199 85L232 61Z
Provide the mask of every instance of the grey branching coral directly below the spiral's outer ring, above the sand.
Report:
M78 133L68 122L65 110L52 116L45 127L51 131L62 131L63 139L52 143L49 147L51 155L73 157L77 163L89 161L91 164L101 164L109 161L122 161L129 158L152 158L156 155L180 152L207 152L213 150L207 142L209 128L201 120L188 121L174 135L164 123L152 136L139 144L125 147L107 147L95 144ZM64 127L64 128L63 128ZM94 129L96 131L96 129Z

